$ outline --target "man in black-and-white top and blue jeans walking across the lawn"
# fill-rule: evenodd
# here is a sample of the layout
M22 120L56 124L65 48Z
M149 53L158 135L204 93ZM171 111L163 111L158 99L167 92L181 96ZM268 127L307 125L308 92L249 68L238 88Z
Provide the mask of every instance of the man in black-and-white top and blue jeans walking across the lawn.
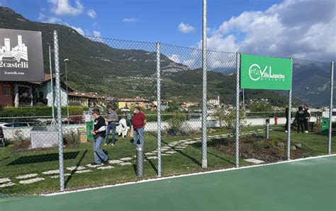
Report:
M92 115L94 116L94 130L91 130L91 134L94 135L94 163L91 165L108 164L108 156L101 149L101 144L106 135L106 123L98 108L92 109Z

